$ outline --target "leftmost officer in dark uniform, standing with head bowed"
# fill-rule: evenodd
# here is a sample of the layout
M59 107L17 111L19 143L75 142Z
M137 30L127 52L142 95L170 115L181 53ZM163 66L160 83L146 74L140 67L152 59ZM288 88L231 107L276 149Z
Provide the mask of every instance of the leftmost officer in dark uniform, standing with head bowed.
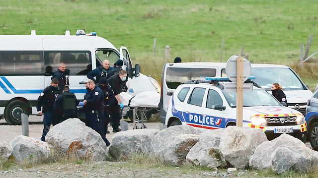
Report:
M42 141L45 141L45 135L50 130L51 123L53 124L53 126L59 123L59 120L56 117L55 111L53 109L54 101L62 93L62 89L58 87L58 83L59 80L53 78L51 85L46 87L40 94L36 105L38 116L42 116L42 114L44 114L44 129L41 137ZM43 112L41 111L41 107L43 107Z

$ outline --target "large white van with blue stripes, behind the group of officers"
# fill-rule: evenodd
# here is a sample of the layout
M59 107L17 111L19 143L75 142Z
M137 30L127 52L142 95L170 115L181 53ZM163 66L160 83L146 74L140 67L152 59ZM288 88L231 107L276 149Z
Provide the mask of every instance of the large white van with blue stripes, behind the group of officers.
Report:
M108 59L111 64L123 60L128 72L128 93L159 91L156 80L133 68L127 48L118 51L109 41L95 32L77 35L0 35L0 115L9 124L20 124L21 113L37 114L36 103L42 90L49 86L58 64L66 64L71 92L79 100L86 93L87 73Z

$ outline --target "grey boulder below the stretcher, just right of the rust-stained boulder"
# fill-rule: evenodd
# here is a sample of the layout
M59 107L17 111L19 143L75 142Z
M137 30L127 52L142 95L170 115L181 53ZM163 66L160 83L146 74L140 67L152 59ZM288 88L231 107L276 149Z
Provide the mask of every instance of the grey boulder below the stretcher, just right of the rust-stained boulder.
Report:
M151 141L160 130L154 128L134 129L114 134L109 146L109 153L118 158L131 153L150 153Z

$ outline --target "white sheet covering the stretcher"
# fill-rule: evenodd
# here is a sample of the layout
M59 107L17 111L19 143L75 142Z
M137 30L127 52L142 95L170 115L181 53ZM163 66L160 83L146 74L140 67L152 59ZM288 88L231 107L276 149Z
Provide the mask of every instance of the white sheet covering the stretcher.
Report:
M132 96L124 92L121 92L120 96L122 97L124 106L127 106ZM138 93L134 98L132 98L129 106L130 107L144 106L144 107L151 108L151 107L158 107L159 102L160 102L160 94L158 92L144 91L144 92Z

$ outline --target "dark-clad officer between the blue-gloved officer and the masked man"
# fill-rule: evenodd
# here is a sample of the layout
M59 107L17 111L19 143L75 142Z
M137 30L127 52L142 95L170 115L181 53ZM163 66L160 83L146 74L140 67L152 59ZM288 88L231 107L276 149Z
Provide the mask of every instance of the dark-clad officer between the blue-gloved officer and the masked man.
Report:
M115 123L115 125L113 124L113 128L115 128L115 130L118 130L118 124L116 124L118 121L114 120L115 117L111 117L112 113L110 109L111 107L117 107L118 102L113 93L113 89L110 85L108 85L107 79L105 77L100 80L99 88L102 89L104 92L104 122L101 122L101 120L99 120L100 128L104 133L109 133L107 126L110 119L112 120L112 123Z

